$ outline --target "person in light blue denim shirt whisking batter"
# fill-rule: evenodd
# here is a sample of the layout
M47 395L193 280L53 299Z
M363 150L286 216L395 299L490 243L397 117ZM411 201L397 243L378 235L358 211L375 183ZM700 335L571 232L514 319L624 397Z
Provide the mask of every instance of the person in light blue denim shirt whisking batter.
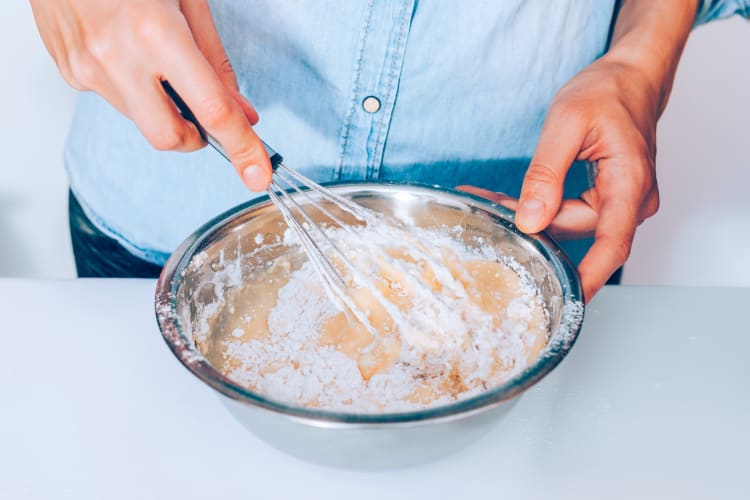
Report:
M157 275L266 188L263 137L318 181L461 186L517 208L523 231L593 236L566 247L587 300L658 208L656 122L691 28L750 15L747 0L31 6L64 79L91 91L65 150L79 275ZM240 180L200 150L164 81Z

